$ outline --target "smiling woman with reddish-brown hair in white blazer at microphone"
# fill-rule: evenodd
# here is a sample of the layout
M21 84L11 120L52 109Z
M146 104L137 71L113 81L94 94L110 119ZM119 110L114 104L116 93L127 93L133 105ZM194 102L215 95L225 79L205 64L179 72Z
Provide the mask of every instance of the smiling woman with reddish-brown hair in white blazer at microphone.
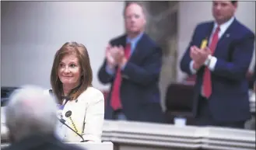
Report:
M54 57L51 68L52 94L58 99L58 117L69 127L59 124L58 135L63 141L101 142L104 120L103 93L92 86L92 68L86 47L75 42L65 43Z

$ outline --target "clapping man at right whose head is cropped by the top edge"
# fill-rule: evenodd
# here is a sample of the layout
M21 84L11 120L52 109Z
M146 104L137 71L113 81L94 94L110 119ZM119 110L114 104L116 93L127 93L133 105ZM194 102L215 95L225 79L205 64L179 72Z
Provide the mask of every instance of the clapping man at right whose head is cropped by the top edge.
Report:
M247 69L254 33L234 17L237 1L214 1L214 22L200 23L181 60L196 74L194 114L198 125L243 128L251 117ZM205 47L205 44L208 46Z

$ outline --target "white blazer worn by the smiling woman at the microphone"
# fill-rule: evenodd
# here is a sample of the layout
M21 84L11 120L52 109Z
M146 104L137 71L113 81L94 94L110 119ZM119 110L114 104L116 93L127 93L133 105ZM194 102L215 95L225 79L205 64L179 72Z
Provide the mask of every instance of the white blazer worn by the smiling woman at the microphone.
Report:
M66 117L67 112L72 112ZM84 140L101 142L104 120L104 96L100 90L88 87L78 99L68 101L60 112L65 123L72 127ZM73 122L73 123L72 123ZM57 133L63 141L79 142L82 138L65 125L58 125Z

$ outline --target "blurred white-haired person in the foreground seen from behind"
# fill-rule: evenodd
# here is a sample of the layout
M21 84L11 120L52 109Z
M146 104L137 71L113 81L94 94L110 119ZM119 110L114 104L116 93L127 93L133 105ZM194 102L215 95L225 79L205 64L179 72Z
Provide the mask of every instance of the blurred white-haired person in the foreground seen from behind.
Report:
M6 106L11 145L5 150L79 150L55 138L57 107L54 99L37 86L16 89Z

